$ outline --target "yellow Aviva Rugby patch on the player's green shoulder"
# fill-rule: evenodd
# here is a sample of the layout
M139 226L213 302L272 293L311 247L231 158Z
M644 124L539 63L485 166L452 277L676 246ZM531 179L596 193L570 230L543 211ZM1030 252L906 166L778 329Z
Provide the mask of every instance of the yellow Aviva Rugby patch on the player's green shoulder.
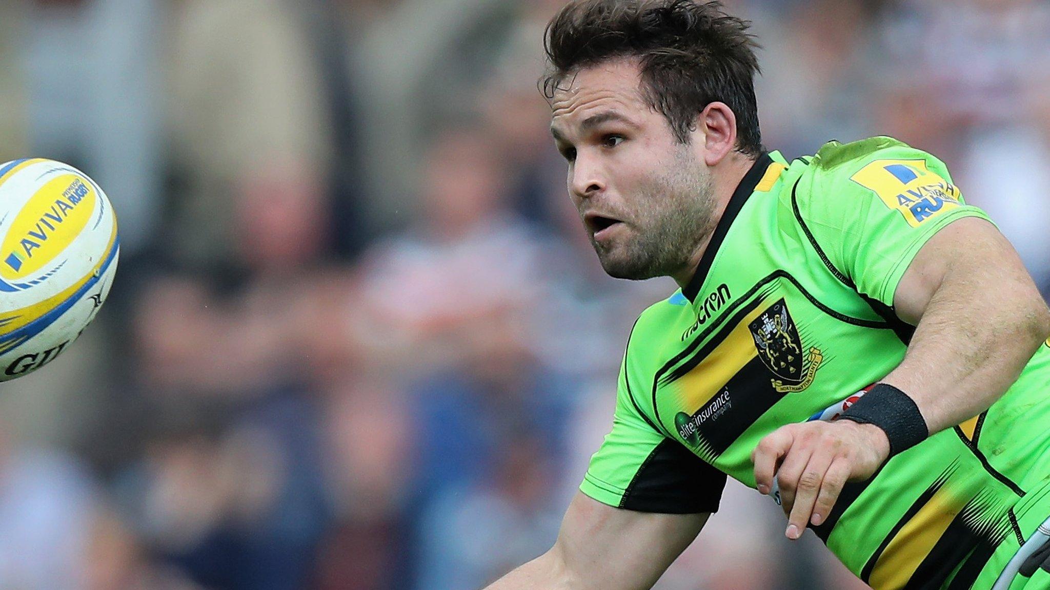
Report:
M879 195L914 228L960 206L959 189L929 170L922 159L876 160L850 180Z

